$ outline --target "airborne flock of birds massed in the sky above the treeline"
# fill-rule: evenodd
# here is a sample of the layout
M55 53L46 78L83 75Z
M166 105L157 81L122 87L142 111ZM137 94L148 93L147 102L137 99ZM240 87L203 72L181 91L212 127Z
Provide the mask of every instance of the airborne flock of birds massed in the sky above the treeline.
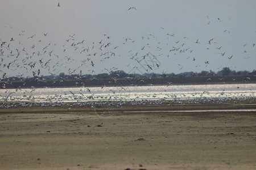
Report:
M7 27L13 29L9 25L4 28ZM161 27L160 29L164 28ZM118 60L120 57L123 57L123 55L121 56L118 53L122 50L118 50L121 46L114 45L114 43L111 42L110 36L106 34L104 34L102 39L98 42L85 42L85 40L77 40L76 34L69 35L67 39L65 39L66 43L63 45L47 42L48 32L39 35L42 39L37 39L37 36L38 35L29 35L26 31L21 31L17 40L15 40L14 37L10 37L9 40L2 40L0 38L0 72L2 72L2 79L8 79L10 76L40 77L42 72L56 77L59 76L59 73L65 71L68 71L68 75L95 74L95 68L101 67L101 63L112 62L112 59ZM178 40L175 41L175 38ZM126 67L139 67L139 69L143 67L144 70L142 71L150 73L150 71L160 69L161 63L159 61L162 61L164 54L166 54L164 59L170 58L170 63L175 63L179 66L179 70L185 67L184 60L192 61L189 63L190 65L195 63L195 68L206 68L210 65L210 61L208 60L196 62L197 57L193 54L195 49L187 46L189 38L177 38L175 33L166 33L166 39L169 40L166 44L160 42L152 33L147 33L147 35L141 37L139 44L143 44L143 46L139 47L139 49L139 45L136 44L139 40L134 40L130 37L122 37L122 39L123 46L137 47L137 49L134 48L127 52L125 59L129 58L130 63L127 63L127 65L125 65ZM26 43L22 40L26 41ZM28 40L31 40L31 42ZM214 40L214 38L210 38L207 42L201 42L197 39L195 44L200 46L200 48L212 50L217 57L233 59L233 54L225 52L224 47L218 45ZM31 46L25 46L25 44L31 44ZM243 58L249 59L250 57L246 56L246 53L250 49L255 50L255 44L242 44L241 46L243 47L243 53L245 53ZM246 48L246 46L249 48ZM147 52L151 50L157 53L157 55L148 56ZM148 61L148 59L151 59L151 61ZM218 67L218 70L221 69L221 67L222 66ZM102 73L110 74L118 69L120 69L120 67L116 66L102 68ZM14 72L18 74L9 75ZM162 71L162 73L166 72L167 71L164 70ZM38 80L40 81L40 79Z

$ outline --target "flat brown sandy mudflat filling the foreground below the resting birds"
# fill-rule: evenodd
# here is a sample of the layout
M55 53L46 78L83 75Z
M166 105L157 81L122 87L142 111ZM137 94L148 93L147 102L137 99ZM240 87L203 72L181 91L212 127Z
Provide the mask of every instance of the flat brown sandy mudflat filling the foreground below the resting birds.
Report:
M0 169L256 169L256 113L236 109L255 104L0 109Z

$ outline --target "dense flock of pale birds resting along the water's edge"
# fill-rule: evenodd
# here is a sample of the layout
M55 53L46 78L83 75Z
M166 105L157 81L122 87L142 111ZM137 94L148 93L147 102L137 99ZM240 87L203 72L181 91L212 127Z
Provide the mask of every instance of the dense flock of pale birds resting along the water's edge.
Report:
M223 94L222 94L223 95ZM75 96L75 95L74 95ZM108 100L86 100L86 101L44 101L44 102L28 102L25 101L13 101L7 103L1 103L0 108L15 108L15 107L90 107L96 109L97 107L123 107L125 105L168 105L174 104L189 105L189 104L222 104L222 103L255 103L255 96L236 96L236 97L196 97L193 99L179 99L179 97L172 96L173 99L166 99L166 97L158 100L116 100L109 98ZM49 98L49 97L48 97Z

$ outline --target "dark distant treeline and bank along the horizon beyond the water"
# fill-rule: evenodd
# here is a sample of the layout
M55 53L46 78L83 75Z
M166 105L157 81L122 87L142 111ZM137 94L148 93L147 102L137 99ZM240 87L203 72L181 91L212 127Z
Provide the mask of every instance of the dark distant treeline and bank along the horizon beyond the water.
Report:
M2 78L0 86L2 88L16 87L72 87L72 86L129 86L129 85L147 85L147 84L168 84L168 83L209 83L209 82L256 82L256 71L234 71L228 67L215 73L214 71L193 71L179 74L156 74L156 73L125 73L117 70L111 73L103 74L72 74L34 76L28 78L9 77Z

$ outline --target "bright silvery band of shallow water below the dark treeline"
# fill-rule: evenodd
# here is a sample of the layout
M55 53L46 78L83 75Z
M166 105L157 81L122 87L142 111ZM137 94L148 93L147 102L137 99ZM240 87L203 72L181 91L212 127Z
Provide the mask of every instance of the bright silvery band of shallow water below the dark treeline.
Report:
M255 97L255 94L256 84L24 88L1 89L0 101L173 100Z

